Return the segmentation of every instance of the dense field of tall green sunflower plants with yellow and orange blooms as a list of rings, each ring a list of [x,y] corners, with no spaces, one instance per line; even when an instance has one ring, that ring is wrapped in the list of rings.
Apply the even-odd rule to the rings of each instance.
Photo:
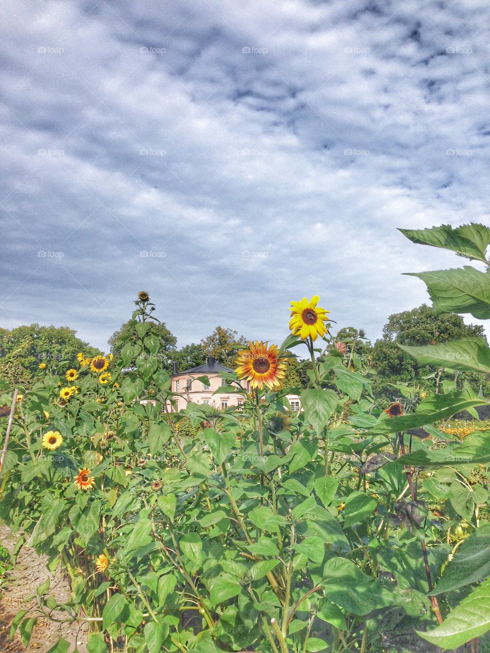
[[[490,229],[403,233],[478,262],[414,275],[436,311],[490,319]],[[380,407],[319,304],[291,302],[281,345],[240,350],[220,390],[239,410],[176,411],[146,292],[120,357],[82,351],[64,375],[42,362],[31,390],[0,390],[0,518],[71,579],[63,605],[42,583],[11,637],[27,646],[42,617],[84,624],[90,653],[490,650],[489,426],[451,421],[490,402],[467,383],[406,385]],[[483,338],[403,349],[490,374]],[[308,389],[282,387],[295,351]]]

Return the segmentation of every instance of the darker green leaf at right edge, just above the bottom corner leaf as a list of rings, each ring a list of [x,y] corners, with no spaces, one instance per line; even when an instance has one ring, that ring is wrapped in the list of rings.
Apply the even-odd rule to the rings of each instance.
[[[454,558],[442,572],[436,588],[429,596],[451,592],[490,576],[490,525],[485,524],[463,542]]]

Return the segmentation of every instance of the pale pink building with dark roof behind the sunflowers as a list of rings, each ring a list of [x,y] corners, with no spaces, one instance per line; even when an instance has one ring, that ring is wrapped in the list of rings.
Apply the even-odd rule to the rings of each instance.
[[[228,408],[230,406],[239,406],[243,402],[243,397],[237,392],[216,392],[221,387],[227,385],[221,374],[234,372],[231,368],[216,362],[214,357],[208,356],[208,360],[203,365],[198,365],[190,370],[178,372],[177,364],[174,363],[172,374],[172,392],[178,394],[178,410],[182,410],[189,402],[195,404],[209,404],[216,408]],[[199,380],[199,377],[207,377],[209,385]],[[250,384],[246,384],[246,389],[250,392]],[[216,392],[216,394],[214,394]],[[287,395],[291,410],[298,411],[300,408],[299,396],[296,394]]]

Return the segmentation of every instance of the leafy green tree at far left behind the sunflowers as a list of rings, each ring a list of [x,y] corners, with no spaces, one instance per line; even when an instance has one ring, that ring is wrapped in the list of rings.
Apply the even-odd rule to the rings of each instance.
[[[0,329],[0,378],[11,387],[30,387],[33,374],[41,362],[46,363],[53,374],[64,374],[76,366],[76,354],[84,353],[93,358],[101,354],[99,349],[76,337],[69,327],[41,327],[38,324],[23,325],[12,330]]]

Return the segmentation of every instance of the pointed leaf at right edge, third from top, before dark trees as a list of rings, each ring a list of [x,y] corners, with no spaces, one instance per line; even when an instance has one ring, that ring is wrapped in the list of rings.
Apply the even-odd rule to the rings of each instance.
[[[483,338],[462,338],[427,347],[398,346],[423,365],[490,374],[490,347]]]

